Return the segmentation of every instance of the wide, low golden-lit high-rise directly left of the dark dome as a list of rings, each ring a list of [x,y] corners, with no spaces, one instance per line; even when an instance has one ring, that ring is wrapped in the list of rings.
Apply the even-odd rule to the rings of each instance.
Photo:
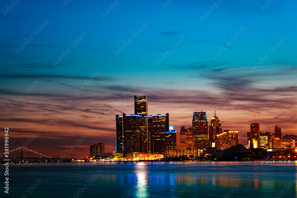
[[[238,131],[224,130],[221,134],[217,134],[217,149],[226,149],[238,145],[238,142]]]

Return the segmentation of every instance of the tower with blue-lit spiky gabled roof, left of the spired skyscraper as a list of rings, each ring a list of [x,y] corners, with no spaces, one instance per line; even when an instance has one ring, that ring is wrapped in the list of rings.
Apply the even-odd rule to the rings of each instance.
[[[193,113],[193,143],[199,140],[208,140],[208,121],[206,112],[195,112]]]

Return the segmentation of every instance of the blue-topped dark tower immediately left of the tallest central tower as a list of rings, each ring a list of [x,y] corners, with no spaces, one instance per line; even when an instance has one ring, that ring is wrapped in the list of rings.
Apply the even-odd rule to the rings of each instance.
[[[123,153],[124,156],[140,152],[140,115],[123,113]]]

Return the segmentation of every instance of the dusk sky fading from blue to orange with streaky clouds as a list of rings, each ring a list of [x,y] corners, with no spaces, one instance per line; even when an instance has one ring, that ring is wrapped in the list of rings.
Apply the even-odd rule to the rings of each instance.
[[[27,148],[60,157],[87,131],[70,157],[97,142],[112,153],[115,115],[134,114],[141,94],[178,132],[206,110],[208,124],[216,111],[244,145],[254,112],[260,131],[297,135],[297,1],[266,2],[1,1],[10,148],[36,134]]]

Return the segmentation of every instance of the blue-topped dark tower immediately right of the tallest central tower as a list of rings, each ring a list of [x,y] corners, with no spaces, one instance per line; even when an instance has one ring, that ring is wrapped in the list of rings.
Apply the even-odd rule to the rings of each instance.
[[[149,116],[150,117],[150,116]],[[169,131],[169,113],[152,115],[151,154],[163,154],[166,149],[165,131]]]

